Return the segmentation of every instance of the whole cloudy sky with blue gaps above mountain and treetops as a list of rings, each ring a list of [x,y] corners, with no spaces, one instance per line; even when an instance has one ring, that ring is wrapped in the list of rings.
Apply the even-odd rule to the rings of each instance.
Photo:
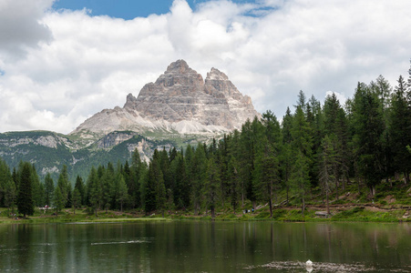
[[[115,3],[115,4],[114,4]],[[0,132],[69,133],[171,62],[227,74],[259,112],[408,77],[409,0],[0,1]]]

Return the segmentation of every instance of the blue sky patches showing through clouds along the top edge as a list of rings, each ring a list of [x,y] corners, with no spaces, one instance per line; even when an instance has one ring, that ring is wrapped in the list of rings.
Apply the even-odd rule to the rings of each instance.
[[[188,4],[192,9],[200,3],[210,2],[208,0],[189,0]],[[252,0],[232,0],[233,3],[245,4],[255,3]],[[148,15],[166,14],[170,11],[173,0],[58,0],[53,8],[81,10],[87,8],[91,10],[91,15],[108,15],[125,20],[135,17],[147,17]]]

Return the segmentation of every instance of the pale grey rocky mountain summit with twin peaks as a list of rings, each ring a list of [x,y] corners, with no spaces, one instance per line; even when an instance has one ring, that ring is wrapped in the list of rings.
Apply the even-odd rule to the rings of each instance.
[[[228,76],[211,68],[205,80],[184,60],[178,60],[126,104],[88,118],[70,135],[94,140],[113,131],[207,135],[241,128],[260,116],[249,96],[242,96]]]

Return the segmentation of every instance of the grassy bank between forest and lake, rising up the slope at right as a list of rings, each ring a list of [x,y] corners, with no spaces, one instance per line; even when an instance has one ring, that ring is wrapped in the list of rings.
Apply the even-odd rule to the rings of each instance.
[[[368,189],[358,187],[352,183],[346,185],[344,190],[333,193],[330,197],[330,215],[325,216],[326,206],[323,195],[319,188],[307,195],[307,204],[302,214],[301,202],[296,197],[290,197],[288,204],[285,192],[280,192],[274,200],[277,204],[270,217],[267,204],[257,204],[254,212],[244,213],[245,210],[252,211],[251,202],[237,209],[234,214],[230,202],[225,202],[225,207],[218,207],[215,220],[217,221],[290,221],[290,222],[411,222],[411,187],[403,182],[382,183],[377,188],[377,194],[370,196]],[[65,208],[54,215],[55,211],[48,210],[46,213],[35,210],[35,215],[23,219],[21,216],[10,216],[7,208],[0,207],[1,223],[71,223],[71,222],[135,222],[135,221],[166,221],[180,219],[211,220],[210,211],[202,210],[198,216],[193,211],[182,211],[170,209],[165,212],[152,214],[147,217],[141,210],[128,210],[118,212],[113,210],[98,211],[98,216],[88,208],[73,209]]]

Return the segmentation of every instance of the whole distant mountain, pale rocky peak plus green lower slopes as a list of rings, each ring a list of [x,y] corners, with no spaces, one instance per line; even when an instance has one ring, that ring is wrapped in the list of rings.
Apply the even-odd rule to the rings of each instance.
[[[178,60],[149,83],[139,96],[129,94],[121,108],[105,109],[67,136],[48,131],[0,134],[0,157],[10,167],[20,160],[35,164],[40,176],[67,165],[72,180],[87,176],[91,166],[124,163],[135,148],[149,160],[155,148],[185,147],[207,142],[248,119],[261,115],[249,96],[242,96],[229,78],[211,68],[205,80]]]

